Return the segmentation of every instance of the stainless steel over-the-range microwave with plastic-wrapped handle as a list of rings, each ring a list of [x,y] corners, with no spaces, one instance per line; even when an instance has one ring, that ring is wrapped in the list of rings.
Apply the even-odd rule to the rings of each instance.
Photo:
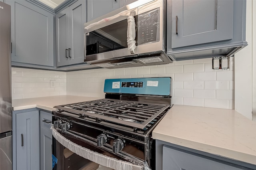
[[[171,63],[166,0],[138,0],[84,24],[84,62],[105,68]]]

